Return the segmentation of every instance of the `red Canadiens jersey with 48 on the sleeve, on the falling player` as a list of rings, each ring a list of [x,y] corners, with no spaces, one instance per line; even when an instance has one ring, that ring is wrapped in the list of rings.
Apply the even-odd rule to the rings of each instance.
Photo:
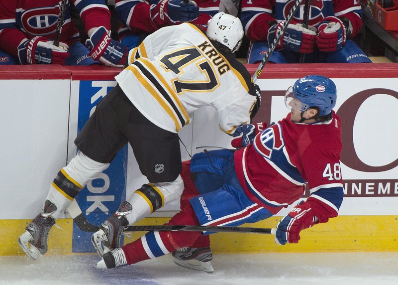
[[[340,118],[300,124],[290,114],[235,151],[235,167],[247,196],[278,213],[298,200],[308,183],[311,199],[337,216],[342,201]]]

